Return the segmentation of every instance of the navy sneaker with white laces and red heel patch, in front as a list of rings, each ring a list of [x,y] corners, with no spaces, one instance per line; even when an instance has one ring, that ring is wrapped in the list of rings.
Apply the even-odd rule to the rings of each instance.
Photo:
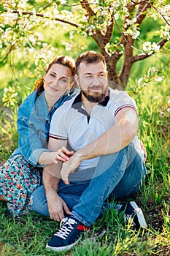
[[[81,235],[85,230],[89,230],[89,227],[85,227],[73,217],[67,217],[58,232],[54,234],[46,245],[46,249],[51,249],[55,252],[69,250],[80,241]]]

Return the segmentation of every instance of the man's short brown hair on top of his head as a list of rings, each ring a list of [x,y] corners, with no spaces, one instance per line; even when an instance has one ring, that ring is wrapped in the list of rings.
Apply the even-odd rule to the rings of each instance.
[[[85,62],[86,64],[90,64],[99,61],[102,61],[104,65],[107,65],[104,56],[102,56],[100,53],[96,53],[96,51],[91,50],[80,54],[75,61],[77,75],[80,63]]]

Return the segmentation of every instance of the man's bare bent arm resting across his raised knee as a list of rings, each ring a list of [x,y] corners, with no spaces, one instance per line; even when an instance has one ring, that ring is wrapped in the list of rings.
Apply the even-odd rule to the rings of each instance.
[[[115,117],[115,124],[107,132],[75,152],[69,161],[63,163],[61,170],[63,181],[69,184],[69,174],[74,173],[82,160],[113,154],[128,146],[136,135],[138,124],[138,116],[134,109],[123,108],[120,110]]]

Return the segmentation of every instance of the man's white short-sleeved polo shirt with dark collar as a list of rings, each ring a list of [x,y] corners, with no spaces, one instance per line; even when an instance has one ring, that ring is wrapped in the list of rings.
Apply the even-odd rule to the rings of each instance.
[[[136,110],[134,99],[125,91],[109,89],[108,96],[102,102],[93,106],[89,116],[82,105],[80,93],[69,101],[64,102],[55,111],[50,124],[49,137],[56,140],[68,140],[72,149],[77,151],[92,143],[93,140],[96,140],[112,127],[115,124],[115,116],[123,108],[133,108]],[[91,151],[93,151],[93,148],[91,148]],[[70,176],[75,178],[82,170],[91,167],[94,169],[98,159],[99,157],[95,157],[82,161],[78,168],[78,173],[73,173]]]

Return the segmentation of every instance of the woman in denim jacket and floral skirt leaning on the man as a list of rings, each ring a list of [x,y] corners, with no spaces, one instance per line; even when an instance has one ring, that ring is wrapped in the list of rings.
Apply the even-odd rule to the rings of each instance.
[[[18,109],[19,145],[0,167],[0,200],[14,216],[31,211],[30,197],[42,184],[42,167],[58,157],[47,149],[50,121],[55,110],[76,94],[70,91],[74,74],[70,57],[54,59]]]

